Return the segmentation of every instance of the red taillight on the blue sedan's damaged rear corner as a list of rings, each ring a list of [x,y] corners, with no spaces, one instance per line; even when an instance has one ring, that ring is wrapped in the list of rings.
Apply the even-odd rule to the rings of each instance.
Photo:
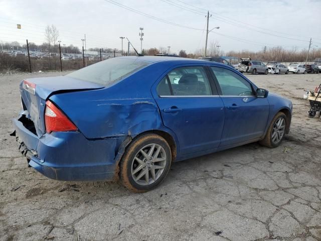
[[[50,100],[47,100],[46,102],[45,125],[47,133],[77,130],[77,127],[70,121],[70,119],[68,119],[68,117]]]

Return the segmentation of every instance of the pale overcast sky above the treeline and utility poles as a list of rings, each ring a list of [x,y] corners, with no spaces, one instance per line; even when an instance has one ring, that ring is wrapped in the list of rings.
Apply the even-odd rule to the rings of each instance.
[[[136,11],[178,27],[128,11],[110,0],[0,0],[0,41],[42,43],[44,29],[54,24],[62,44],[81,47],[86,34],[87,49],[121,49],[120,36],[128,37],[140,50],[139,27],[143,27],[143,48],[171,46],[194,52],[205,46],[206,10],[212,18],[208,42],[217,41],[224,51],[260,50],[277,45],[321,47],[321,0],[114,0]],[[178,6],[174,6],[178,5]],[[245,24],[247,23],[247,24]],[[17,29],[21,24],[22,29]],[[192,29],[191,29],[192,28]],[[124,48],[127,42],[124,41]]]

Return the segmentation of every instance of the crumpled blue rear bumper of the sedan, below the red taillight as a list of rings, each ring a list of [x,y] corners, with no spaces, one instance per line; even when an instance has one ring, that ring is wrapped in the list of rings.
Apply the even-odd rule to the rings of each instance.
[[[88,140],[79,132],[56,132],[41,137],[13,119],[19,150],[29,165],[48,178],[62,181],[112,180],[121,138]]]

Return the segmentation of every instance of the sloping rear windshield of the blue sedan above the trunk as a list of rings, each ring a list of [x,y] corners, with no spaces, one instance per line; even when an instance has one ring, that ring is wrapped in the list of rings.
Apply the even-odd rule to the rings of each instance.
[[[79,69],[67,74],[67,76],[108,86],[146,67],[148,64],[137,59],[111,58]]]

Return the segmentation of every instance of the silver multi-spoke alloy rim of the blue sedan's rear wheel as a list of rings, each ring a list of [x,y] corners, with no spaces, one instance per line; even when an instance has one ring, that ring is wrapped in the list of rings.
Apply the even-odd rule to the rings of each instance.
[[[165,149],[152,143],[141,148],[131,164],[131,177],[141,186],[147,186],[162,176],[167,163]]]

